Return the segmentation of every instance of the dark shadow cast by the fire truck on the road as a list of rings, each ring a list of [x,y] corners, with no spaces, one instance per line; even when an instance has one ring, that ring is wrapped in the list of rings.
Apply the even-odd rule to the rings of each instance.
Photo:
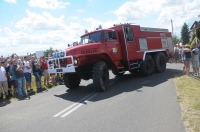
[[[123,76],[111,79],[110,83],[112,85],[110,85],[108,90],[104,93],[100,93],[98,97],[92,99],[91,101],[95,102],[98,100],[112,98],[113,96],[117,96],[123,92],[143,92],[141,88],[143,88],[144,86],[153,88],[154,86],[166,82],[174,75],[182,76],[182,70],[166,69],[164,73],[154,73],[153,75],[148,77],[137,77],[133,76],[132,74],[125,74]],[[65,100],[77,102],[81,97],[80,96],[79,98],[77,98],[79,95],[82,95],[82,97],[84,97],[93,91],[95,91],[95,89],[93,88],[92,83],[90,83],[87,86],[80,86],[77,89],[68,89],[66,93],[54,96]]]

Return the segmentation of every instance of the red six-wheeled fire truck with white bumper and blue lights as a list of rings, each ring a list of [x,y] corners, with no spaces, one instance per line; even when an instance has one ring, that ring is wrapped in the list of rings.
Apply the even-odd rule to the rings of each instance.
[[[79,87],[81,79],[93,79],[95,88],[106,91],[109,70],[115,75],[163,72],[171,52],[172,36],[167,29],[119,24],[86,33],[78,45],[53,53],[48,72],[63,73],[70,89]]]

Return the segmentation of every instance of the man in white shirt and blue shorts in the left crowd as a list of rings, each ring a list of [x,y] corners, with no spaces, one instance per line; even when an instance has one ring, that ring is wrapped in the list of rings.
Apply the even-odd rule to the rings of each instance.
[[[26,89],[27,92],[32,92],[33,89],[31,88],[31,72],[32,72],[32,67],[31,63],[29,62],[28,56],[24,56],[24,76],[26,79]]]

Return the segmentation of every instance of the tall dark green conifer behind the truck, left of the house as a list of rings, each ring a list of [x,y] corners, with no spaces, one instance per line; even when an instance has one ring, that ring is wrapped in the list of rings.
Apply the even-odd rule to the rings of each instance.
[[[183,24],[183,27],[181,29],[181,40],[182,40],[183,45],[189,43],[190,41],[189,28],[186,23]]]

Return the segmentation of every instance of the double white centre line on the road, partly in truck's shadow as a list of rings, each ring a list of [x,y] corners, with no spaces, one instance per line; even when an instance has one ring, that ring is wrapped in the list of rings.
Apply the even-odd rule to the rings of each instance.
[[[112,82],[110,82],[109,86],[113,85],[115,82],[117,82],[120,78],[116,78],[115,80],[113,80]],[[93,91],[91,93],[89,93],[87,96],[83,97],[82,99],[80,99],[79,101],[77,101],[76,103],[70,105],[69,107],[65,108],[64,110],[60,111],[59,113],[55,114],[53,117],[66,117],[69,114],[71,114],[72,112],[74,112],[75,110],[77,110],[79,107],[87,104],[91,99],[93,99],[94,97],[96,97],[98,94],[100,94],[97,91]]]

